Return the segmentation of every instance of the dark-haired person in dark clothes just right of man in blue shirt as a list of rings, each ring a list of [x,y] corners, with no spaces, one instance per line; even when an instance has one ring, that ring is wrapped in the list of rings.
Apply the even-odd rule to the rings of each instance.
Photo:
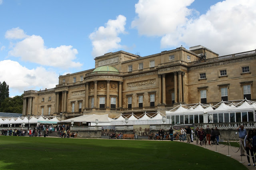
[[[244,138],[244,147],[246,149],[246,154],[247,154],[247,160],[248,160],[248,166],[250,166],[250,153],[249,150],[251,152],[251,156],[252,156],[252,162],[253,162],[253,166],[255,166],[255,161],[254,161],[254,154],[253,154],[253,148],[252,148],[252,137],[253,137],[253,132],[252,129],[250,129],[248,131],[248,134],[246,134],[245,138]]]

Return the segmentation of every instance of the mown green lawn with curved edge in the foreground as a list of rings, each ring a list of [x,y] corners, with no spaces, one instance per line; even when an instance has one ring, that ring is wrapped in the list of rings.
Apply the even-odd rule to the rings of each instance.
[[[205,148],[174,141],[0,136],[0,169],[246,169]]]

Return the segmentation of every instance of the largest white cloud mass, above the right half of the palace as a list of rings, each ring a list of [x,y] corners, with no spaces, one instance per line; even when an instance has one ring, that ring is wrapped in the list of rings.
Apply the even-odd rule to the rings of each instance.
[[[149,2],[154,7],[155,5],[165,6],[169,1],[139,1],[138,4],[145,6]],[[180,1],[177,2],[180,3]],[[174,2],[172,1],[172,3]],[[255,0],[218,2],[211,6],[206,14],[197,17],[189,13],[190,10],[187,6],[191,3],[192,1],[180,3],[177,9],[184,9],[184,12],[179,15],[168,14],[168,17],[172,19],[164,17],[165,10],[159,10],[158,13],[160,14],[158,14],[149,8],[148,10],[154,14],[151,16],[148,10],[137,12],[139,10],[137,10],[138,4],[136,4],[138,18],[132,22],[132,26],[136,26],[140,34],[162,36],[161,47],[203,45],[220,55],[255,49]],[[143,20],[146,20],[146,22],[143,22]],[[165,20],[168,24],[165,24]],[[174,20],[174,22],[170,22],[170,20]],[[137,21],[140,21],[141,24]],[[161,28],[155,28],[152,23],[155,23],[155,27],[159,26]],[[150,27],[153,27],[154,31],[150,32]]]

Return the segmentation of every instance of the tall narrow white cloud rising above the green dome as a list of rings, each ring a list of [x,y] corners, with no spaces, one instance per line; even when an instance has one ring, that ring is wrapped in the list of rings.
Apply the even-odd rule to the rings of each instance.
[[[125,34],[126,17],[119,15],[116,20],[108,20],[89,36],[92,41],[92,55],[94,57],[108,53],[110,50],[121,48],[119,34]]]

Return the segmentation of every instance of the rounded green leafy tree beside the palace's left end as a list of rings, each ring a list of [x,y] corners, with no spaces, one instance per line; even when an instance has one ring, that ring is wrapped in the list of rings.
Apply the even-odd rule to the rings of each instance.
[[[21,96],[15,96],[13,98],[8,97],[2,101],[0,107],[1,112],[6,113],[22,113],[23,109],[23,94]]]

